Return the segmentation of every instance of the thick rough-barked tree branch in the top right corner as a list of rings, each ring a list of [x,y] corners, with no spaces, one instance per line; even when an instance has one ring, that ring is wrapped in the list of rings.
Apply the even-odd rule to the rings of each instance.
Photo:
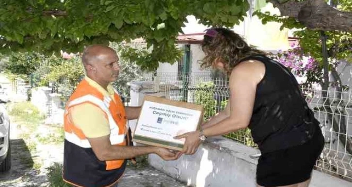
[[[295,18],[308,29],[352,31],[352,13],[339,11],[324,0],[290,0],[282,4],[277,0],[268,1],[281,15]]]

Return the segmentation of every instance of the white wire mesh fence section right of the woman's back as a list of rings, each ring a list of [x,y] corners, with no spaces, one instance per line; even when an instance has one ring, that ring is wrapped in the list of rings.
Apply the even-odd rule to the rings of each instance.
[[[352,92],[304,89],[306,101],[320,121],[325,147],[318,170],[352,180]]]

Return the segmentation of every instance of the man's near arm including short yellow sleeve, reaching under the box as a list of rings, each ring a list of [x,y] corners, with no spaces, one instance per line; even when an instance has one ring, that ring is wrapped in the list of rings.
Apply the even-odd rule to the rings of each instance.
[[[149,153],[156,153],[165,160],[179,157],[179,155],[160,147],[112,145],[109,139],[110,127],[108,119],[106,119],[102,110],[93,104],[83,103],[72,107],[70,109],[70,117],[72,122],[83,131],[99,160],[133,158]]]

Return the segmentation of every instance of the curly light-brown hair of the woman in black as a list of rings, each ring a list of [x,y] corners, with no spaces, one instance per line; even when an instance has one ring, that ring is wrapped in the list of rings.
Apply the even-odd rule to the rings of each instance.
[[[205,53],[201,62],[202,68],[212,67],[215,60],[220,59],[228,75],[241,59],[266,55],[264,51],[249,46],[239,34],[224,28],[208,29],[204,35],[202,50]]]

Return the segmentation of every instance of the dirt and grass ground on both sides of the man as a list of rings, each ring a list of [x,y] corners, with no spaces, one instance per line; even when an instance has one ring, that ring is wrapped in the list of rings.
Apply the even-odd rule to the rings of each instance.
[[[62,186],[61,165],[64,155],[64,133],[61,125],[45,125],[37,119],[19,114],[10,116],[12,168],[0,173],[0,187],[50,187],[48,168],[55,164],[55,179]],[[18,117],[18,115],[23,115]],[[31,120],[24,120],[31,118]],[[15,123],[16,122],[16,123]],[[126,169],[119,187],[186,187],[165,173],[148,166],[147,157],[138,157],[137,165]],[[57,174],[60,173],[60,174]],[[53,173],[51,173],[53,174]],[[58,187],[58,186],[56,186]]]

